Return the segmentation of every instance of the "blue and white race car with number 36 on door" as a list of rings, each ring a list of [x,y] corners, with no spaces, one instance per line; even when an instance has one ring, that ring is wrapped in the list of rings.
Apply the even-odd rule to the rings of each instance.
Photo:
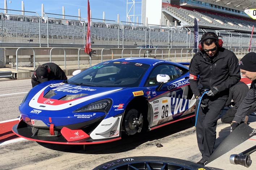
[[[195,116],[188,67],[154,58],[99,63],[68,80],[38,84],[13,132],[56,144],[98,144]]]

